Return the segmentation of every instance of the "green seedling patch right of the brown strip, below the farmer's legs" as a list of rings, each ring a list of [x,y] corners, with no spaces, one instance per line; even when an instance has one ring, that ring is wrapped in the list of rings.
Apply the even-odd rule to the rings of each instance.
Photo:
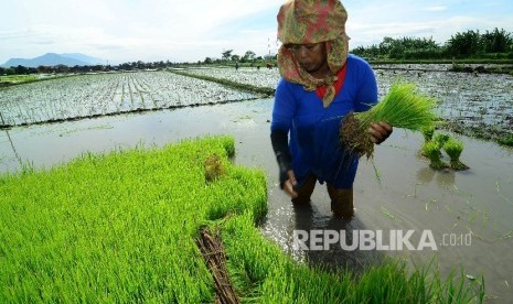
[[[222,230],[232,282],[242,302],[252,303],[482,303],[480,280],[440,278],[428,264],[408,269],[393,258],[366,267],[325,270],[298,263],[255,227],[250,214],[232,218]],[[243,245],[243,246],[242,246]]]

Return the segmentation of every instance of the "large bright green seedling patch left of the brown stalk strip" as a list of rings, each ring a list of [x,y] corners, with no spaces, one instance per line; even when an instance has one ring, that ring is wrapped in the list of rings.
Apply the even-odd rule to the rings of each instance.
[[[0,175],[0,303],[213,303],[199,228],[267,210],[265,175],[227,160],[233,142],[88,153]],[[225,175],[205,185],[210,155]]]

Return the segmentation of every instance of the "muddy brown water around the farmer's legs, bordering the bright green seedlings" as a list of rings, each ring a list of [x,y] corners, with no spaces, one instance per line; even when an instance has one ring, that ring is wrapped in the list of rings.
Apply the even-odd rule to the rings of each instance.
[[[86,151],[104,152],[136,145],[164,145],[180,139],[232,133],[236,163],[264,170],[268,176],[269,211],[264,235],[298,260],[328,267],[363,265],[386,256],[412,264],[434,259],[442,276],[464,268],[469,278],[485,278],[498,303],[513,301],[513,158],[512,151],[466,137],[461,160],[466,172],[435,172],[419,156],[419,134],[395,130],[375,152],[374,163],[362,161],[354,185],[355,217],[334,219],[324,185],[317,185],[311,206],[293,208],[277,186],[277,165],[269,142],[271,99],[184,108],[126,117],[12,129],[0,133],[0,171],[15,171],[20,162],[50,167]],[[9,137],[8,137],[9,135]],[[396,231],[413,230],[417,248],[424,231],[435,247],[424,250],[330,250],[292,248],[295,230],[383,230],[385,245]]]

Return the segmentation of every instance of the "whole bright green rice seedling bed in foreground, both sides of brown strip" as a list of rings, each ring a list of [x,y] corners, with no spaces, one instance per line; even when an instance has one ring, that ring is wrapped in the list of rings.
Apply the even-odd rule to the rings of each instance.
[[[85,154],[50,170],[0,176],[0,302],[213,303],[196,247],[221,231],[242,301],[426,303],[483,300],[483,285],[386,261],[359,278],[284,256],[255,227],[265,174],[234,165],[231,135]],[[222,167],[205,180],[206,159]]]

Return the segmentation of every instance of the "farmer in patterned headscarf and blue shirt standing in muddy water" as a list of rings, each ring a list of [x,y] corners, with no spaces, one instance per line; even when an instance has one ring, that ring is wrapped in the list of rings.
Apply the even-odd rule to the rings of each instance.
[[[310,203],[317,181],[327,183],[335,217],[351,218],[354,156],[339,143],[342,118],[377,102],[371,66],[348,53],[348,14],[339,0],[289,0],[278,13],[278,69],[270,138],[280,187],[295,205]],[[371,141],[392,133],[372,123]],[[290,138],[290,141],[289,141]]]

